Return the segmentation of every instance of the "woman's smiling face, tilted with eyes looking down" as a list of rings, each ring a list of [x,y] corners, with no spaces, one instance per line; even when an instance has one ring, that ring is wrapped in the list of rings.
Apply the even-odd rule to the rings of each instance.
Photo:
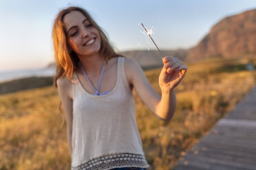
[[[81,12],[72,11],[63,18],[67,44],[78,56],[89,56],[100,50],[100,34]]]

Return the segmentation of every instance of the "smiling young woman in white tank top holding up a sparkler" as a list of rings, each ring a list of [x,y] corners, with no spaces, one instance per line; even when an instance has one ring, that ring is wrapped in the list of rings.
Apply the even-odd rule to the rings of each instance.
[[[136,124],[132,90],[159,119],[170,121],[176,107],[174,88],[187,66],[178,58],[163,58],[160,97],[140,66],[115,53],[102,29],[82,8],[61,10],[52,36],[55,84],[67,123],[71,169],[149,167]]]

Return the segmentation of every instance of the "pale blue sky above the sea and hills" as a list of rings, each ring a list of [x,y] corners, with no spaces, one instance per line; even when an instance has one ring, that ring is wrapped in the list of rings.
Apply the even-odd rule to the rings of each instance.
[[[187,49],[225,16],[256,8],[255,0],[0,0],[0,71],[35,69],[54,61],[52,23],[59,10],[85,8],[118,51]]]

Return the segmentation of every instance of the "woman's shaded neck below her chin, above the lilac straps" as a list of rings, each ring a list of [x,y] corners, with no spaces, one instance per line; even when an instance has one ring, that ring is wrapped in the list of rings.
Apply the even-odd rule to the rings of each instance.
[[[78,58],[83,66],[83,69],[85,69],[87,73],[98,73],[101,70],[104,62],[103,56],[100,56],[99,53],[95,53],[91,56],[78,56]]]

